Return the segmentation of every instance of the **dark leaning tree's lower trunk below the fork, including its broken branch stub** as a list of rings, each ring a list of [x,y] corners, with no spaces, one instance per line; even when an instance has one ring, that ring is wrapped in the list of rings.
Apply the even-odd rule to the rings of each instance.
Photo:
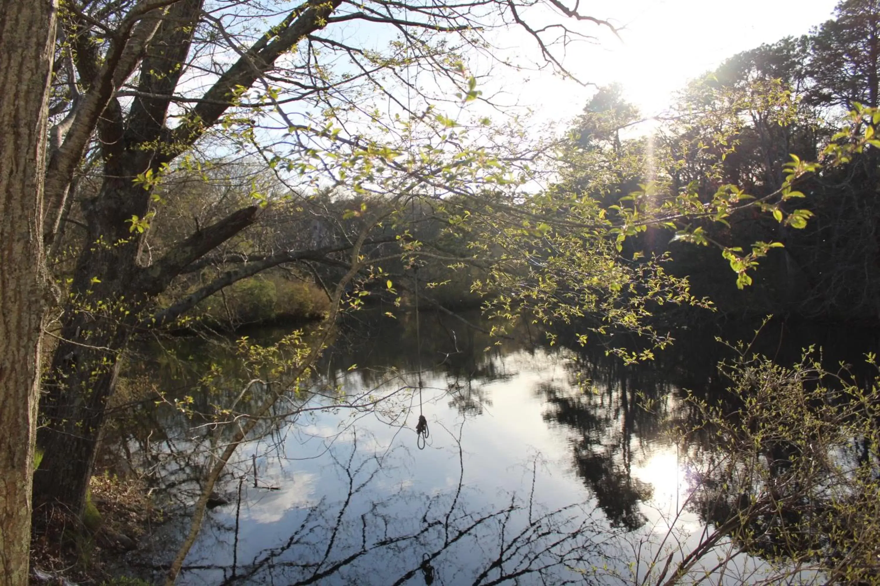
[[[121,156],[99,194],[84,203],[86,242],[91,244],[77,259],[61,339],[43,385],[40,416],[45,423],[37,445],[44,455],[33,477],[34,501],[60,505],[77,517],[83,512],[106,402],[143,310],[188,264],[253,223],[259,209],[231,213],[143,266],[138,262],[143,235],[131,230],[127,220],[147,213],[150,193],[133,179],[151,164],[140,151]]]

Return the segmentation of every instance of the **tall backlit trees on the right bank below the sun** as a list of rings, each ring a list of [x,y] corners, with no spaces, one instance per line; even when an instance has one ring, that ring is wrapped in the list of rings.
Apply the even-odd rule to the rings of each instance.
[[[563,188],[586,190],[606,206],[643,184],[656,193],[693,185],[702,201],[724,184],[758,198],[776,192],[791,155],[816,160],[848,112],[876,107],[878,19],[874,2],[843,2],[835,18],[808,35],[731,57],[679,92],[650,139],[621,139],[642,121],[640,114],[620,88],[600,90],[573,129],[578,138]],[[873,121],[866,124],[873,134]],[[677,274],[690,275],[695,290],[722,311],[876,321],[876,157],[867,149],[801,184],[806,198],[782,210],[796,205],[809,211],[796,225],[803,229],[757,213],[731,218],[727,227],[703,224],[722,248],[784,244],[745,293],[732,286],[714,252],[671,245],[673,233],[652,230],[640,245],[671,250]]]

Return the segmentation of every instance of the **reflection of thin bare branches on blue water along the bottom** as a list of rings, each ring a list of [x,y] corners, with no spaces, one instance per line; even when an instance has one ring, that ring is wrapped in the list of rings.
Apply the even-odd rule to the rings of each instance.
[[[589,584],[594,582],[583,572],[597,563],[626,566],[617,546],[610,545],[613,532],[582,505],[543,510],[532,494],[511,496],[500,507],[474,508],[463,485],[460,450],[458,486],[434,495],[376,486],[385,458],[364,457],[356,435],[349,448],[337,446],[331,453],[343,480],[340,499],[322,498],[289,511],[290,521],[275,525],[290,527],[289,533],[275,529],[278,544],[247,560],[238,553],[237,519],[216,523],[213,542],[203,542],[202,550],[211,561],[228,561],[196,562],[185,566],[181,577],[224,585]]]

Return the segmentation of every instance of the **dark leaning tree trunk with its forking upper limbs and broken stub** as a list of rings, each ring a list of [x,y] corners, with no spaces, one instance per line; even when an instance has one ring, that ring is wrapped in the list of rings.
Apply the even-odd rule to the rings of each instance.
[[[157,18],[161,22],[150,20],[156,14],[150,12],[151,7],[158,4],[168,6],[167,15]],[[339,4],[341,0],[313,0],[297,7],[242,54],[205,93],[205,101],[194,108],[192,118],[173,130],[165,126],[165,118],[196,28],[182,24],[199,18],[202,0],[141,0],[136,5],[149,18],[137,23],[136,18],[124,19],[128,28],[115,35],[88,93],[77,105],[76,119],[48,165],[47,199],[56,209],[63,204],[86,139],[99,133],[105,179],[98,194],[82,204],[84,242],[90,245],[77,258],[70,299],[62,315],[62,340],[55,347],[40,404],[46,424],[37,434],[37,445],[45,454],[33,478],[36,502],[82,512],[106,402],[114,392],[121,355],[143,318],[143,309],[187,264],[255,220],[257,208],[239,210],[181,242],[157,264],[144,267],[139,262],[144,235],[129,228],[133,216],[144,218],[149,212],[150,191],[135,184],[135,178],[148,170],[157,172],[163,163],[190,148],[223,116],[238,85],[249,87],[272,69],[290,47],[323,28],[326,16]],[[128,33],[134,40],[131,44],[124,40]],[[114,91],[142,58],[138,90],[150,97],[138,98],[125,114]],[[49,226],[48,232],[52,231]]]

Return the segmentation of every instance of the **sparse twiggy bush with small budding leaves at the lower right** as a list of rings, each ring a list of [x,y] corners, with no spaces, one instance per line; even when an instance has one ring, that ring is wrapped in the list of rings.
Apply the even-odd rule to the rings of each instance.
[[[880,378],[865,390],[811,349],[791,366],[740,351],[722,364],[724,402],[689,397],[701,423],[682,437],[696,481],[688,500],[715,527],[707,539],[759,555],[774,579],[876,583]]]

